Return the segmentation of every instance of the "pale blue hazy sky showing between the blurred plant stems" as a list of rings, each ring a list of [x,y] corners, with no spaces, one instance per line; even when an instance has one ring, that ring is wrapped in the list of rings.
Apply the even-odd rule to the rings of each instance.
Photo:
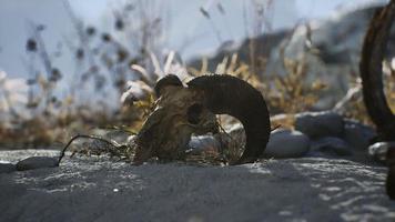
[[[274,0],[280,6],[274,7],[272,22],[274,29],[292,27],[300,20],[322,19],[338,11],[342,7],[362,6],[372,0]],[[381,1],[381,0],[375,0]],[[383,0],[385,2],[385,0]],[[111,9],[125,0],[69,0],[78,17],[85,23],[109,27],[108,17]],[[161,1],[164,2],[164,1]],[[188,2],[188,3],[186,3]],[[205,7],[212,12],[214,26],[220,30],[222,41],[240,40],[245,36],[243,27],[242,6],[250,0],[221,1],[226,16],[216,10],[219,0],[166,0],[171,28],[168,33],[168,47],[179,50],[186,38],[195,38],[182,51],[184,58],[213,51],[220,46],[211,24],[200,12]],[[281,3],[282,2],[282,3]],[[27,72],[22,60],[26,40],[31,34],[29,21],[47,26],[44,40],[49,51],[64,38],[72,37],[70,19],[60,0],[0,0],[0,70],[10,75],[23,77]],[[69,58],[60,59],[60,65],[72,64]]]

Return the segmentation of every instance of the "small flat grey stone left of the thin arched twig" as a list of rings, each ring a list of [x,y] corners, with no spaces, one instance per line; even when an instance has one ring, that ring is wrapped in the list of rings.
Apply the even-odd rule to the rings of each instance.
[[[55,168],[58,167],[57,158],[49,157],[31,157],[24,160],[21,160],[17,163],[17,170],[36,170],[40,168]]]

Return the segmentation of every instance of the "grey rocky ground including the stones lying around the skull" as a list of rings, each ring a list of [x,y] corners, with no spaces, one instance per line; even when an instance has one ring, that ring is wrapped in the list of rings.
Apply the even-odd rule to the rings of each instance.
[[[372,144],[374,129],[334,112],[294,119],[272,132],[265,159],[236,167],[70,153],[57,167],[58,150],[0,151],[0,221],[395,221],[383,164],[393,144]],[[229,134],[245,141],[241,125]]]

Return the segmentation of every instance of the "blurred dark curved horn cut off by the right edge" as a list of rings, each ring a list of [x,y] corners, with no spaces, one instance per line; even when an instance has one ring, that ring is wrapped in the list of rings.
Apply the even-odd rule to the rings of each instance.
[[[364,40],[359,62],[364,102],[382,140],[395,140],[395,115],[388,107],[383,90],[382,67],[394,20],[395,0],[392,0],[373,17]]]

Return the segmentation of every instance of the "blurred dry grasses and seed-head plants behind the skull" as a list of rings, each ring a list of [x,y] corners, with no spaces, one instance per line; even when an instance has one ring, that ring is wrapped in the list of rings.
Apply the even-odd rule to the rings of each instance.
[[[263,12],[259,10],[262,7],[264,6],[255,8],[257,11],[253,13],[255,14],[254,22],[252,22],[253,29],[246,31],[251,32],[249,36],[257,36],[259,30],[267,26],[262,20]],[[221,4],[217,8],[221,13],[226,14]],[[320,99],[318,94],[326,90],[325,82],[307,81],[308,63],[305,58],[291,60],[284,56],[286,43],[281,49],[281,60],[285,70],[283,74],[257,74],[265,72],[267,58],[254,51],[257,48],[254,46],[257,42],[254,41],[251,41],[247,62],[240,61],[239,56],[234,53],[225,56],[213,70],[209,70],[209,61],[205,58],[202,59],[200,69],[185,67],[176,59],[174,51],[168,54],[158,53],[161,51],[160,39],[164,32],[163,21],[160,16],[149,17],[148,10],[158,9],[152,9],[150,3],[140,1],[136,6],[126,4],[115,10],[115,30],[111,34],[85,26],[71,10],[69,11],[78,38],[75,38],[77,42],[71,41],[67,44],[75,56],[77,71],[72,78],[73,82],[67,84],[69,93],[62,97],[59,97],[59,91],[64,90],[60,88],[60,81],[67,73],[57,69],[52,58],[49,57],[51,53],[45,50],[45,42],[41,38],[43,28],[31,23],[32,33],[27,41],[27,51],[29,58],[40,61],[43,65],[40,65],[41,69],[31,69],[31,77],[27,80],[29,91],[22,95],[27,99],[22,105],[12,103],[12,91],[0,88],[2,92],[0,97],[2,95],[6,101],[6,103],[0,103],[0,108],[1,105],[8,108],[8,118],[0,123],[0,143],[11,145],[64,143],[73,134],[113,125],[138,132],[146,115],[152,111],[155,100],[153,95],[155,81],[168,73],[178,74],[184,82],[206,73],[231,74],[243,79],[262,92],[271,114],[275,115],[272,118],[272,125],[281,124],[284,128],[292,128],[294,114],[310,110]],[[201,11],[211,20],[207,11],[204,9]],[[128,26],[130,23],[128,21],[135,19],[139,14],[144,16],[141,24],[145,26]],[[211,22],[213,29],[216,29],[215,22]],[[133,46],[122,44],[122,38],[133,42]],[[217,38],[221,37],[217,36]],[[27,63],[27,67],[33,67],[29,60]],[[395,71],[388,62],[386,62],[386,68],[385,91],[388,95],[388,103],[395,111]],[[39,74],[36,74],[37,70],[40,70]],[[4,81],[0,78],[0,83]],[[338,111],[346,117],[369,123],[362,95],[358,94],[361,83],[355,79],[350,84],[356,91],[350,93],[350,98],[345,98]],[[91,103],[87,102],[87,99],[83,100],[83,93],[79,91],[80,88],[90,90],[98,98]],[[113,92],[113,98],[121,99],[123,102],[119,107],[115,105],[115,110],[110,108],[105,101],[108,99],[101,95],[109,91]],[[23,112],[29,113],[29,117]],[[234,122],[233,119],[221,117],[224,128]],[[222,152],[210,150],[200,157],[190,159],[215,163],[235,160],[240,157],[244,142],[233,135],[224,138],[227,140],[222,141],[222,145],[226,148],[222,148]],[[105,153],[107,150],[93,149],[98,152],[92,152],[88,145],[87,148],[80,152],[100,154]],[[133,151],[122,150],[119,151],[119,155],[131,160]]]

